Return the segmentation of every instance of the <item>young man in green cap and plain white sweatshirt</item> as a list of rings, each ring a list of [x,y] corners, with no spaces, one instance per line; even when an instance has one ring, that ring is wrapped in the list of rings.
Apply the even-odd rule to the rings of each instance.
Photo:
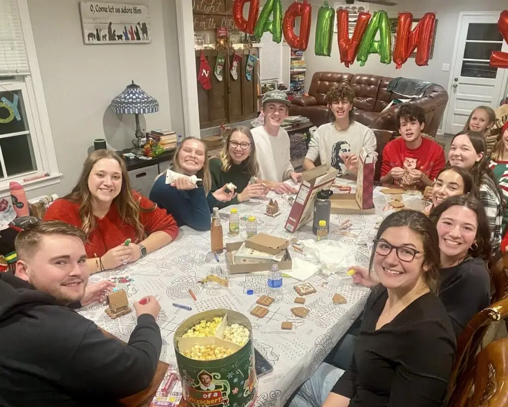
[[[266,92],[263,97],[265,124],[251,130],[256,144],[260,178],[271,181],[271,188],[277,193],[295,191],[283,181],[302,180],[302,174],[295,172],[291,164],[289,134],[280,125],[288,116],[288,94],[280,90]]]

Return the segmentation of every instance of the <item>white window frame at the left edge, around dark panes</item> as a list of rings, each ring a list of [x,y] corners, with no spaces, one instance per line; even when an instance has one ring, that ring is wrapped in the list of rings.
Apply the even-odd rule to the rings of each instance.
[[[23,94],[26,121],[31,137],[31,144],[34,149],[37,170],[0,180],[0,197],[9,195],[9,183],[12,181],[21,184],[25,191],[31,191],[58,184],[62,177],[62,174],[58,171],[58,164],[56,161],[56,153],[27,0],[17,0],[17,5],[30,73],[28,75],[17,75],[14,79],[12,79],[12,77],[0,77],[0,84],[6,89],[12,88],[13,86],[20,86],[22,88],[21,93]],[[27,98],[25,98],[25,95]],[[27,178],[44,176],[45,174],[49,174],[49,176],[33,181],[23,181]]]

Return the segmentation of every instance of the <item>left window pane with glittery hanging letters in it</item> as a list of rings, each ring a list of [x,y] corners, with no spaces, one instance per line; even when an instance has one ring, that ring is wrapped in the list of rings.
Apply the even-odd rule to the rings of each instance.
[[[28,125],[21,90],[0,92],[0,134],[26,130]]]

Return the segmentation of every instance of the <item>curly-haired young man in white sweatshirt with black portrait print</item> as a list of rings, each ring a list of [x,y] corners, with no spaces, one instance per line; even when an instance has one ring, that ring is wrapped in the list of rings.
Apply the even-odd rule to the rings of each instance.
[[[335,120],[323,124],[314,132],[303,160],[303,169],[314,168],[315,160],[320,157],[321,164],[338,170],[338,176],[356,176],[362,148],[374,160],[377,157],[376,137],[370,128],[353,119],[355,91],[351,86],[335,84],[328,91],[326,99]]]

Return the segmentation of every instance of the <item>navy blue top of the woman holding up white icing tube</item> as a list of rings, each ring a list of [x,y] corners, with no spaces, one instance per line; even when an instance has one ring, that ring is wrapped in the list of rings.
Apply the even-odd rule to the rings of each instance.
[[[149,197],[171,214],[178,226],[210,230],[210,209],[203,187],[180,191],[166,184],[166,177],[162,176],[155,180]]]

